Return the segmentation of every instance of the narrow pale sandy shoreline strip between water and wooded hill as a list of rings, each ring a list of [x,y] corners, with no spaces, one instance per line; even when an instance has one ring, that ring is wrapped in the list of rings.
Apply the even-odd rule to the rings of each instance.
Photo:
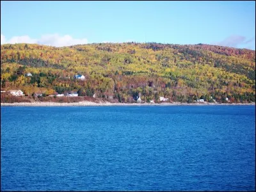
[[[201,103],[181,103],[181,102],[163,102],[163,103],[111,103],[111,102],[14,102],[1,103],[1,106],[255,106],[252,103],[219,103],[219,102],[201,102]]]

